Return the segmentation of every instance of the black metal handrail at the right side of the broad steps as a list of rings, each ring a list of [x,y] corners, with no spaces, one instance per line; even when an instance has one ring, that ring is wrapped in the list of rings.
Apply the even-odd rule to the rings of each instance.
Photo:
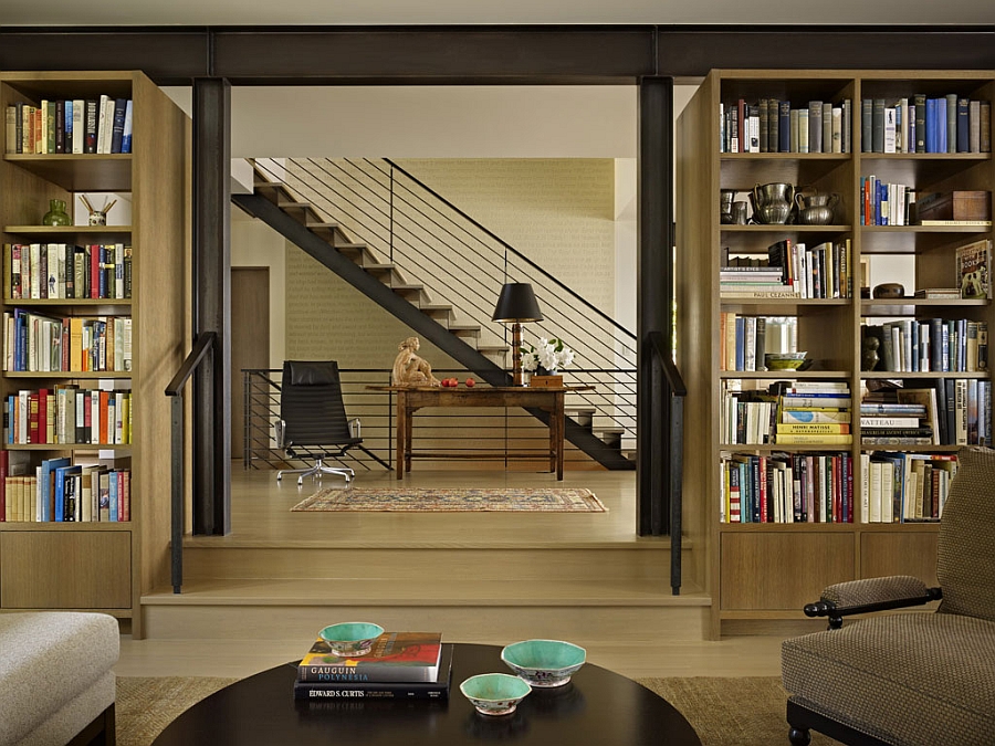
[[[667,483],[668,494],[664,497],[670,508],[670,587],[673,595],[679,596],[681,592],[684,397],[688,396],[688,388],[684,386],[681,371],[673,364],[663,334],[661,332],[650,332],[647,335],[647,342],[652,353],[653,361],[663,370],[663,379],[666,381],[666,387],[663,387],[664,396],[653,399],[661,402],[661,409],[664,411],[654,412],[653,419],[660,422],[670,422],[670,433],[666,442],[666,448],[670,454],[667,461],[670,480]],[[652,385],[656,388],[658,382],[653,381]],[[667,389],[669,389],[669,396],[666,396]],[[670,410],[669,417],[667,409]]]

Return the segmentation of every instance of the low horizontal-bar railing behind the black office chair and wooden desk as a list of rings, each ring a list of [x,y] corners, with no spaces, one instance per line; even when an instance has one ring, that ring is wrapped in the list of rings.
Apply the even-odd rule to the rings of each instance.
[[[434,370],[440,377],[457,377],[464,386],[472,374],[465,370]],[[599,371],[591,371],[596,377]],[[363,445],[368,453],[352,449],[341,461],[347,465],[359,465],[367,470],[381,470],[384,463],[392,465],[395,459],[395,437],[397,420],[395,416],[396,399],[388,391],[370,390],[369,386],[384,386],[389,382],[390,371],[387,369],[339,369],[342,377],[343,401],[346,413],[359,418],[362,423]],[[603,376],[617,375],[617,371],[604,371]],[[280,389],[282,370],[279,369],[243,369],[242,396],[245,406],[244,420],[244,469],[286,469],[304,465],[305,461],[318,453],[295,446],[296,456],[289,459],[286,453],[276,448],[274,423],[280,419]],[[485,383],[476,382],[479,387]],[[566,413],[575,421],[587,427],[589,422],[597,433],[590,407],[580,398],[580,392],[568,393]],[[635,411],[628,413],[635,418]],[[606,449],[618,450],[620,433],[608,432]],[[546,469],[549,458],[549,435],[545,425],[540,423],[524,409],[510,408],[464,408],[464,409],[423,409],[413,419],[412,445],[415,452],[444,452],[462,454],[464,461],[472,461],[476,455],[481,461],[493,462],[495,458],[510,451],[515,453],[507,463],[530,464],[536,471]],[[523,452],[535,452],[535,456],[522,456]],[[380,460],[378,463],[377,460]],[[533,459],[537,460],[533,461]],[[589,463],[589,456],[567,446],[565,461]],[[425,462],[432,462],[426,456]],[[440,460],[439,460],[440,461]]]

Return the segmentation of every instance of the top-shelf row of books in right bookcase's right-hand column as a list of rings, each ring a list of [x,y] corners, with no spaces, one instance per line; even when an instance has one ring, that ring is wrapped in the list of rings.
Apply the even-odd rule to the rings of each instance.
[[[863,98],[863,153],[989,153],[992,105],[950,93]]]

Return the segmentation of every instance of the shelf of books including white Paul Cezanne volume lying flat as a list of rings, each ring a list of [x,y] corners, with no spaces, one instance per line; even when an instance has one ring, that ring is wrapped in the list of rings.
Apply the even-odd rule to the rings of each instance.
[[[852,284],[849,239],[811,248],[784,239],[768,246],[765,264],[719,271],[723,298],[847,298]]]

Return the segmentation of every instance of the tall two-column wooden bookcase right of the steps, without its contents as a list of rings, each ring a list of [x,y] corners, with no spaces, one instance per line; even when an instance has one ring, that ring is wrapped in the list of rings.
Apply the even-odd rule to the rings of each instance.
[[[982,372],[881,372],[861,370],[861,325],[882,317],[944,318],[986,322],[995,328],[989,300],[876,301],[860,297],[863,260],[904,258],[914,290],[954,283],[954,253],[965,243],[992,239],[991,225],[865,225],[860,217],[861,177],[873,175],[901,182],[919,193],[952,190],[987,192],[995,183],[991,153],[865,153],[861,146],[863,99],[889,102],[915,94],[955,93],[995,102],[995,74],[976,71],[712,71],[681,114],[677,130],[678,164],[678,363],[688,381],[684,433],[685,527],[704,551],[690,571],[712,595],[711,633],[723,629],[765,628],[804,620],[802,607],[832,582],[890,574],[909,574],[935,582],[936,523],[861,523],[861,455],[890,450],[953,453],[954,445],[862,445],[859,427],[861,391],[876,379],[901,379],[908,387],[925,379],[991,380]],[[764,97],[790,101],[852,102],[851,147],[846,153],[730,153],[720,146],[720,106]],[[991,129],[991,124],[988,125]],[[991,139],[992,133],[988,132]],[[746,199],[755,185],[789,182],[840,196],[831,224],[723,224],[720,190],[737,190]],[[807,245],[849,242],[850,297],[720,296],[723,249],[740,256],[766,259],[767,248],[788,239]],[[874,273],[872,284],[888,282]],[[813,359],[805,371],[725,370],[720,359],[723,314],[794,317],[797,349]],[[722,435],[723,392],[764,388],[772,381],[845,382],[852,396],[852,443],[730,444]],[[727,523],[720,518],[723,455],[774,452],[847,454],[853,464],[853,523]]]

